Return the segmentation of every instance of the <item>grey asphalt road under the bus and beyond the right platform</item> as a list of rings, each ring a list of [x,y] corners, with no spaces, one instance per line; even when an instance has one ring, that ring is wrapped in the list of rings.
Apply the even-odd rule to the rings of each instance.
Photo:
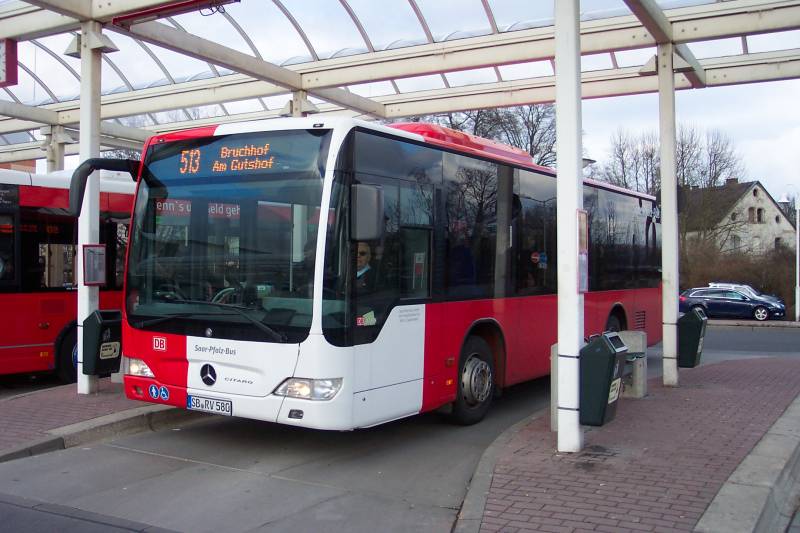
[[[703,364],[797,357],[800,329],[712,326],[704,346]],[[0,464],[0,529],[447,532],[486,447],[548,401],[537,380],[475,426],[426,414],[346,433],[212,417]]]

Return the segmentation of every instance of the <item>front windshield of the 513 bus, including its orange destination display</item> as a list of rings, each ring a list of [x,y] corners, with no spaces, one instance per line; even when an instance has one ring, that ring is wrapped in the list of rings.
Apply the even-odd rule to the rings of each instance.
[[[304,339],[329,144],[330,130],[288,130],[151,145],[131,232],[129,323]]]

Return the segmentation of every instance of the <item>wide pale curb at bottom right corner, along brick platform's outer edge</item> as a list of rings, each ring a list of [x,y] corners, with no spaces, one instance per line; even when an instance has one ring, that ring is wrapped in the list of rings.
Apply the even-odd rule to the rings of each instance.
[[[800,397],[712,500],[694,531],[785,531],[800,503]]]

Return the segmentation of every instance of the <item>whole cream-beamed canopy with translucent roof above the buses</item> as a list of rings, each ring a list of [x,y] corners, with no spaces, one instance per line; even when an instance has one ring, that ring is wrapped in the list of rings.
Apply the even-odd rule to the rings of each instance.
[[[319,113],[384,120],[551,102],[553,19],[553,2],[522,0],[0,0],[19,59],[0,162],[42,157],[48,126],[77,153],[81,21],[103,25],[101,143],[136,148],[279,116],[300,91]],[[677,89],[800,75],[800,1],[583,0],[580,27],[584,98],[655,92],[666,41]]]

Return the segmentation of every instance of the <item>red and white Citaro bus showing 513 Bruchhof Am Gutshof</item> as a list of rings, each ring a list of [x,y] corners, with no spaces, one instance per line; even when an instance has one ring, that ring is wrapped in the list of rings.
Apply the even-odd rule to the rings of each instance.
[[[146,145],[126,268],[128,397],[348,430],[549,373],[555,174],[427,124],[291,118]],[[587,182],[585,333],[660,340],[655,198]]]

